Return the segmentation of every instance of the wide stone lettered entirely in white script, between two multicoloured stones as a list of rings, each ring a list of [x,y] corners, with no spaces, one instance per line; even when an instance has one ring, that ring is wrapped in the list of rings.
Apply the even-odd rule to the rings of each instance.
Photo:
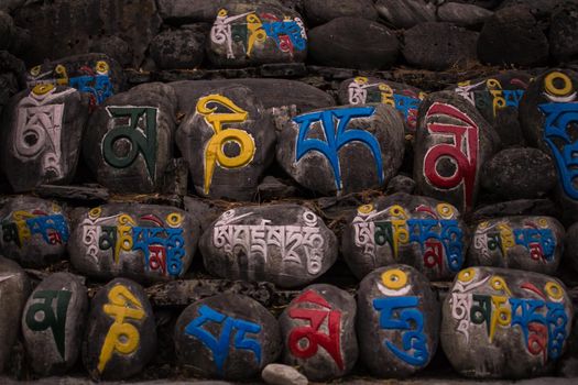
[[[280,287],[306,285],[337,258],[335,234],[315,212],[293,204],[228,210],[203,233],[199,248],[212,275]]]

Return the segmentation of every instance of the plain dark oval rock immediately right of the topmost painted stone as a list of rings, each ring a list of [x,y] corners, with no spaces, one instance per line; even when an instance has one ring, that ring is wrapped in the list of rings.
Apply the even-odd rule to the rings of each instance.
[[[360,18],[339,18],[308,32],[309,57],[329,67],[381,69],[397,59],[400,42],[385,25]]]

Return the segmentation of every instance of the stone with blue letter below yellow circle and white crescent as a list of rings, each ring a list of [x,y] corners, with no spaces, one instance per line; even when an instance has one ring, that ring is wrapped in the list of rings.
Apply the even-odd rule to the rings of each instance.
[[[359,359],[372,375],[408,377],[434,358],[440,306],[429,280],[415,268],[392,265],[371,272],[359,285],[357,307]]]

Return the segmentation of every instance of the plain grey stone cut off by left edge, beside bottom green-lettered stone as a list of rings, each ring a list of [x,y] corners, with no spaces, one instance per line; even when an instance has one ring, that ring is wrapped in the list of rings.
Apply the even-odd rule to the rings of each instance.
[[[0,255],[0,373],[18,338],[20,316],[30,294],[26,273],[14,261]]]

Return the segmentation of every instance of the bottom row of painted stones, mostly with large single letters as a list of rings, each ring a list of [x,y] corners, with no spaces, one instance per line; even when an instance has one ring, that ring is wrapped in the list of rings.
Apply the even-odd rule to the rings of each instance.
[[[94,380],[128,378],[155,355],[155,315],[137,283],[113,279],[88,306],[77,276],[50,275],[29,297],[24,272],[4,258],[0,268],[0,302],[12,310],[0,317],[2,363],[19,323],[40,375],[64,374],[81,352]],[[407,377],[429,364],[439,341],[462,375],[522,378],[552,372],[571,324],[564,285],[546,275],[467,268],[440,305],[425,276],[393,265],[362,279],[357,304],[335,286],[313,285],[279,321],[249,297],[198,300],[176,320],[173,342],[185,373],[211,378],[251,378],[280,356],[314,381],[343,376],[358,359],[375,376]]]

